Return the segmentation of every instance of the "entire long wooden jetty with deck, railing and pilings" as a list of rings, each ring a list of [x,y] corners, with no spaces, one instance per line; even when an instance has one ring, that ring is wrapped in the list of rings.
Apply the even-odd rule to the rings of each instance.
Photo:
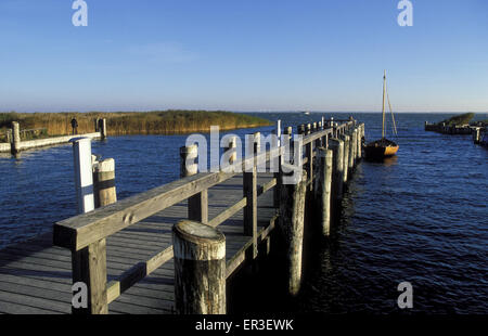
[[[286,127],[283,137],[292,131]],[[275,248],[277,237],[284,242],[287,292],[296,295],[304,220],[330,235],[331,215],[338,215],[344,183],[362,156],[364,125],[322,119],[298,133],[303,140],[269,151],[254,134],[254,156],[229,155],[234,167],[251,167],[243,172],[197,172],[189,165],[194,147],[184,147],[180,180],[119,202],[110,196],[114,163],[93,161],[90,141],[75,141],[80,215],[56,223],[50,237],[0,251],[0,311],[226,313],[228,283]],[[260,172],[259,163],[274,157],[280,169]],[[286,157],[298,166],[297,183],[286,182],[293,172]],[[319,216],[307,215],[310,208]],[[72,285],[80,283],[87,306],[72,307],[79,294]]]

